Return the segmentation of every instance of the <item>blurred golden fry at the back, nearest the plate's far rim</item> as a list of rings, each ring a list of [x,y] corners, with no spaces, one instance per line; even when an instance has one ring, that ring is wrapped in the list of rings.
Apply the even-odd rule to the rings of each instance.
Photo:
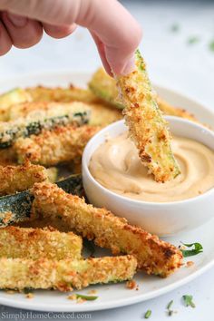
[[[34,102],[98,102],[98,98],[89,90],[74,87],[67,88],[48,88],[38,86],[26,88]]]

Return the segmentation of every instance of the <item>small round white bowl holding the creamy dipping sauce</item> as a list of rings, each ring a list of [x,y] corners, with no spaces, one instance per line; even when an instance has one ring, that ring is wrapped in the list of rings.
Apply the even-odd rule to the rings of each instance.
[[[178,117],[167,116],[166,119],[173,134],[199,141],[214,150],[213,131]],[[124,121],[112,123],[93,136],[83,152],[83,187],[94,206],[110,209],[131,224],[159,236],[195,229],[214,217],[214,188],[195,198],[162,203],[123,197],[94,180],[88,168],[93,152],[106,140],[107,135],[116,137],[124,131],[127,131]]]

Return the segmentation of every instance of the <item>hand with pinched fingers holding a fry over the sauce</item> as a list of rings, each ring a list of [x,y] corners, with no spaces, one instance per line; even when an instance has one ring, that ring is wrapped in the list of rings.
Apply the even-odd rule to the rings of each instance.
[[[0,55],[12,45],[37,44],[43,31],[53,38],[89,29],[107,73],[129,73],[141,27],[116,0],[0,0]]]

